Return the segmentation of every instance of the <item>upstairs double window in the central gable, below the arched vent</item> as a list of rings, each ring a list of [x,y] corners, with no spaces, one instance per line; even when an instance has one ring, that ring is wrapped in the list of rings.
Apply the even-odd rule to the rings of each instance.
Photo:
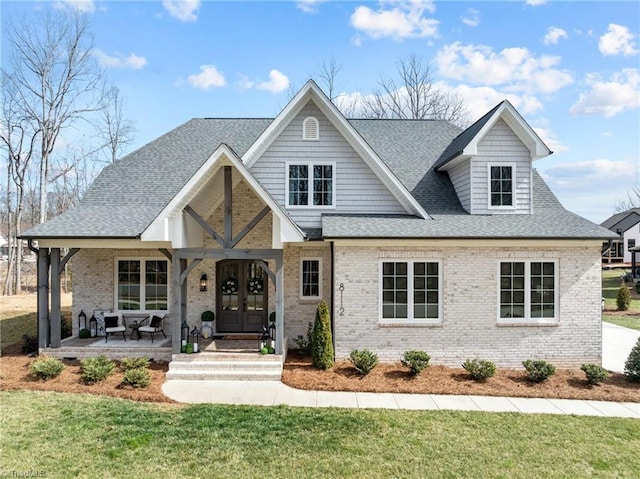
[[[334,206],[334,175],[334,163],[288,163],[287,206]]]

